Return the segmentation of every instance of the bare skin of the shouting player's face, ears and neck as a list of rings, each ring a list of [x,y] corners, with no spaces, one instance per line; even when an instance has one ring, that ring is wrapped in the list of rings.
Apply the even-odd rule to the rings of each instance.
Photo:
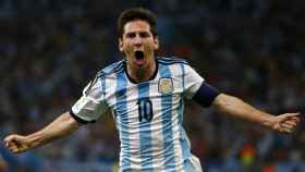
[[[136,82],[148,81],[156,70],[155,51],[159,48],[158,37],[144,21],[129,22],[119,38],[119,49],[125,54],[129,75]],[[144,59],[136,60],[135,51],[143,51]]]

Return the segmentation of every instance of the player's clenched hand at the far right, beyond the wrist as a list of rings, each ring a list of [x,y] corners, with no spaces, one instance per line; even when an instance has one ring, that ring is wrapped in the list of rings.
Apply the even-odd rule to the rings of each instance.
[[[292,133],[296,124],[301,121],[300,113],[284,113],[278,116],[272,116],[271,127],[280,133]]]

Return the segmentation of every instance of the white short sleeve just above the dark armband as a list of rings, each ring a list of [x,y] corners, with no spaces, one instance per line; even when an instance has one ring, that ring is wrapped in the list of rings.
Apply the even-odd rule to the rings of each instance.
[[[184,95],[192,99],[205,79],[190,65],[184,65]]]

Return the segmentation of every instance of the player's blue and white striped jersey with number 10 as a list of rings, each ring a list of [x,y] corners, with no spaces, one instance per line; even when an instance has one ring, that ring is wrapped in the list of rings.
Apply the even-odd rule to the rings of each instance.
[[[112,111],[123,172],[200,172],[182,122],[184,101],[194,96],[204,78],[184,60],[156,61],[156,75],[143,83],[129,77],[124,60],[103,69],[72,107],[72,115],[94,122],[108,109]]]

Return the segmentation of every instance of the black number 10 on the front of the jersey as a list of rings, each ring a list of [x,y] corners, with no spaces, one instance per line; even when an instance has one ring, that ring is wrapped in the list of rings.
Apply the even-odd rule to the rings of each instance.
[[[138,121],[143,120],[150,122],[152,120],[152,102],[149,99],[141,99],[137,101]]]

